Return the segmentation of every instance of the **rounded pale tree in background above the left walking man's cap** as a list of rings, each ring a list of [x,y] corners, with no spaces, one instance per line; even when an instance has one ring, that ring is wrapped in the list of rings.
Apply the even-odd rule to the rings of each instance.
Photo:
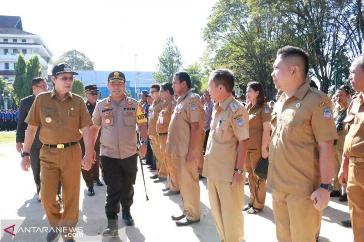
[[[54,63],[66,62],[72,70],[94,70],[95,63],[75,49],[64,52]]]

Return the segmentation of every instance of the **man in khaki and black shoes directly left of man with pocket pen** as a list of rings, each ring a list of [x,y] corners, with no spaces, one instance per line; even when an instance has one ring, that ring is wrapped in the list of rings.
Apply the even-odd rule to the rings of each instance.
[[[183,201],[183,214],[172,216],[177,225],[199,222],[201,216],[197,168],[202,155],[202,127],[205,120],[201,102],[192,93],[191,85],[187,72],[174,74],[172,87],[179,98],[168,128],[166,152],[172,154],[172,162],[177,167]]]

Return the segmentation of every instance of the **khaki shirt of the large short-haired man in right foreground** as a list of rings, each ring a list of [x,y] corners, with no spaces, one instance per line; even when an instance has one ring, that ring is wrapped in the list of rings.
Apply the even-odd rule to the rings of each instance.
[[[311,196],[320,187],[319,142],[339,138],[331,101],[305,83],[293,97],[281,95],[272,112],[267,185]]]

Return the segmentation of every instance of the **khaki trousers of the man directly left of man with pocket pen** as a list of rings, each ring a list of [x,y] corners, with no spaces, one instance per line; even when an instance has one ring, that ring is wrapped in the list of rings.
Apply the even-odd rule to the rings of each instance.
[[[187,219],[196,221],[201,217],[200,185],[197,167],[200,159],[186,161],[185,156],[172,154],[172,162],[177,168],[179,191],[183,202],[183,214]]]

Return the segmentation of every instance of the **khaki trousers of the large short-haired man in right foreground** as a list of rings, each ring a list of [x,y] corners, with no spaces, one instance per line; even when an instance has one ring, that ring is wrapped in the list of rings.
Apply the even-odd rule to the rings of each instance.
[[[316,242],[322,211],[310,197],[273,189],[273,214],[278,242]]]

